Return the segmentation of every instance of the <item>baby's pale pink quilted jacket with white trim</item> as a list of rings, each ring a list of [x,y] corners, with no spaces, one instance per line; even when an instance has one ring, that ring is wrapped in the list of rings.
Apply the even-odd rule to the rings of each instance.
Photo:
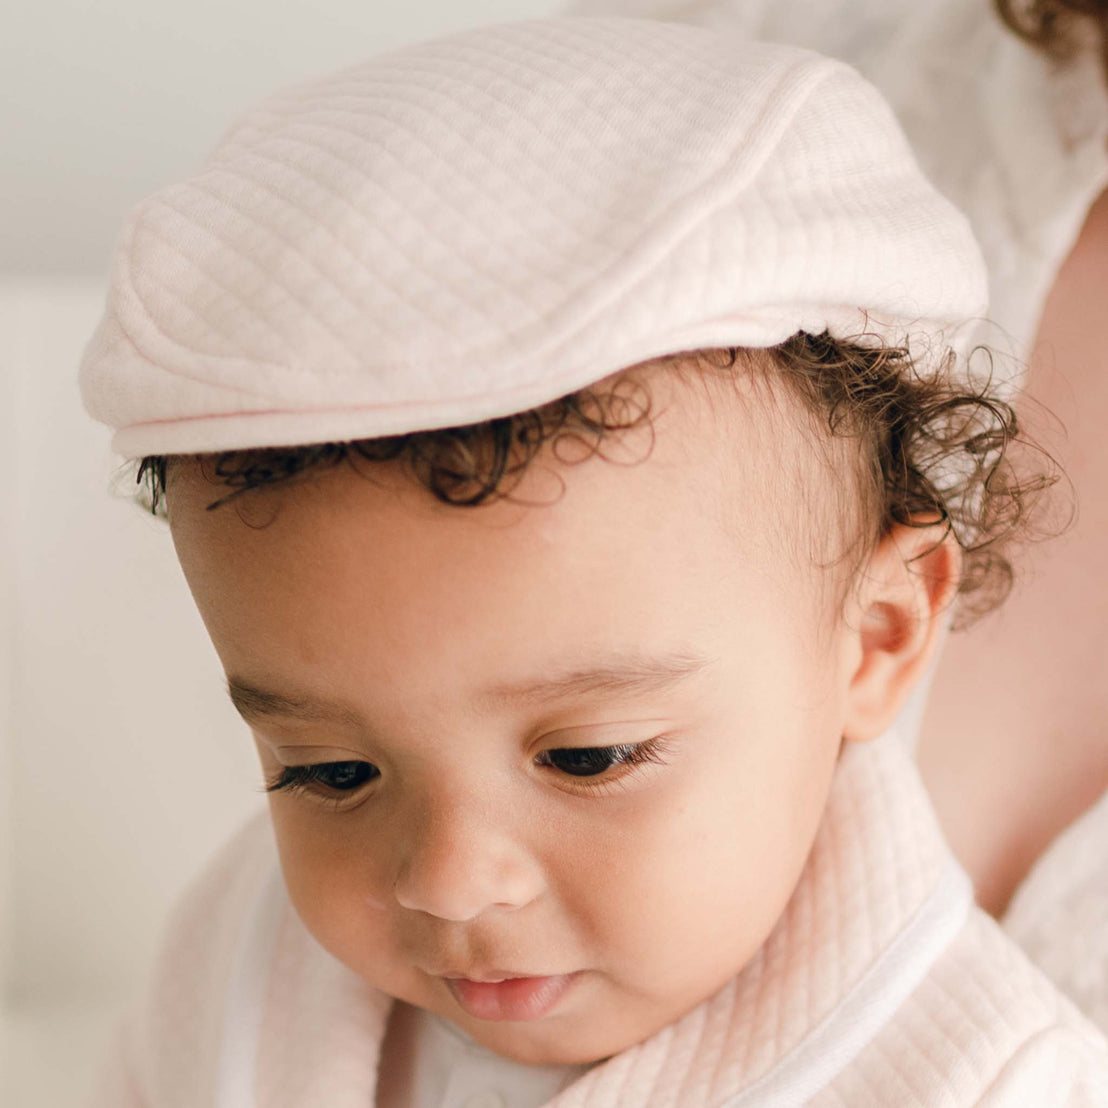
[[[281,891],[261,813],[184,897],[96,1108],[375,1102],[392,1002],[324,951]],[[1106,1098],[1108,1044],[972,906],[909,756],[882,741],[847,748],[797,889],[755,958],[548,1108]]]

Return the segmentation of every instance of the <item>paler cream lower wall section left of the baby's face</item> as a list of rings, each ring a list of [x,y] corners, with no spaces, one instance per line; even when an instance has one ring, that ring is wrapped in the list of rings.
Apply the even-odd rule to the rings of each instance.
[[[41,1097],[28,1085],[6,1099],[0,1086],[0,1104],[20,1108],[75,1102],[50,1085],[80,1071],[59,1068],[58,1042],[96,1060],[173,896],[263,803],[168,531],[110,493],[107,431],[81,409],[74,371],[103,296],[93,278],[0,283],[16,393],[2,432],[18,459],[4,994],[9,1080],[24,1074]]]

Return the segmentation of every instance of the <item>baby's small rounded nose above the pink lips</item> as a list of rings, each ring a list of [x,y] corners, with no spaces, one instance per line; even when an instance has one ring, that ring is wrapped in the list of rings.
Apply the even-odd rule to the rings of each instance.
[[[542,865],[517,829],[462,802],[443,802],[403,829],[393,894],[401,906],[465,922],[542,894]]]

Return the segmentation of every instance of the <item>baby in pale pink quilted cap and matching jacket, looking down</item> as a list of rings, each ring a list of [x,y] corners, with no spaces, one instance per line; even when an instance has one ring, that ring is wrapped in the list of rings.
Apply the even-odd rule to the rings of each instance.
[[[305,82],[141,204],[82,388],[269,812],[96,1104],[1108,1104],[881,738],[1007,585],[984,307],[858,74],[652,21]]]

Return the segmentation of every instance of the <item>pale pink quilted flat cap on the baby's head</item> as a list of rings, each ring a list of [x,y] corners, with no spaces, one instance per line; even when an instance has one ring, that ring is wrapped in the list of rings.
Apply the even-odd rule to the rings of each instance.
[[[131,212],[80,381],[125,456],[348,441],[797,330],[957,347],[985,307],[968,223],[854,70],[570,17],[258,102]]]

